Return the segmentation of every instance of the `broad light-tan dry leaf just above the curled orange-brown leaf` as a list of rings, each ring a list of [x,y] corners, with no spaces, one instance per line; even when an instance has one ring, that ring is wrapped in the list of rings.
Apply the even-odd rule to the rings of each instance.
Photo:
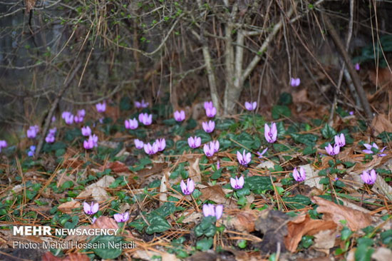
[[[324,220],[333,220],[336,224],[340,224],[340,220],[346,220],[349,228],[354,231],[371,225],[372,219],[368,213],[337,205],[324,198],[313,197],[311,200],[319,205],[317,212],[324,214]]]

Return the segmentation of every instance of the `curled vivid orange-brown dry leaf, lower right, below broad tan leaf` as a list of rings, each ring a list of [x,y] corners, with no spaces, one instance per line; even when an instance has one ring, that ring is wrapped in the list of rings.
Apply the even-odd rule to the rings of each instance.
[[[314,235],[321,230],[335,230],[336,227],[335,222],[331,220],[313,220],[307,214],[298,215],[287,223],[288,233],[284,237],[284,245],[290,252],[295,252],[304,235]]]

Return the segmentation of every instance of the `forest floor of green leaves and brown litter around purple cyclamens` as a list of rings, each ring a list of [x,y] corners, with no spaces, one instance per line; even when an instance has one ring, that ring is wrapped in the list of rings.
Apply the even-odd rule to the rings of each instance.
[[[85,107],[81,123],[67,124],[56,116],[51,123],[55,140],[47,140],[38,158],[30,152],[40,131],[26,138],[22,149],[7,144],[1,150],[1,257],[388,260],[391,123],[379,115],[368,128],[361,116],[338,108],[330,126],[327,115],[317,117],[322,108],[297,113],[298,104],[291,101],[284,93],[269,111],[255,113],[249,103],[235,116],[208,113],[195,120],[179,112],[173,116],[165,101],[135,108],[134,101],[122,97],[106,101],[105,108]],[[152,123],[143,119],[150,113]],[[125,123],[133,118],[136,123]],[[208,121],[215,123],[213,131],[205,126]],[[82,133],[86,126],[91,133]],[[89,147],[86,134],[92,133],[98,142]],[[336,140],[342,135],[344,142]],[[200,144],[190,137],[199,137]],[[135,148],[136,139],[153,148],[163,138],[160,151]],[[212,146],[209,155],[216,142],[219,148]],[[12,235],[12,225],[120,233],[23,237]],[[14,250],[16,240],[106,247]],[[134,247],[110,248],[109,242],[133,242]]]

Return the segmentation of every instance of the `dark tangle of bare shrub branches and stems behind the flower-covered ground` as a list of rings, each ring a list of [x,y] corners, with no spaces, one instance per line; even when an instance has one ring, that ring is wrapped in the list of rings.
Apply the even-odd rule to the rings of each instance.
[[[378,92],[373,109],[388,111],[379,94],[391,79],[392,1],[0,1],[0,136],[43,123],[77,66],[56,116],[123,97],[173,108],[212,98],[221,116],[252,100],[262,113],[302,89],[312,103],[361,112],[346,73],[339,83],[346,70],[322,14],[343,43],[352,35],[366,93]]]

